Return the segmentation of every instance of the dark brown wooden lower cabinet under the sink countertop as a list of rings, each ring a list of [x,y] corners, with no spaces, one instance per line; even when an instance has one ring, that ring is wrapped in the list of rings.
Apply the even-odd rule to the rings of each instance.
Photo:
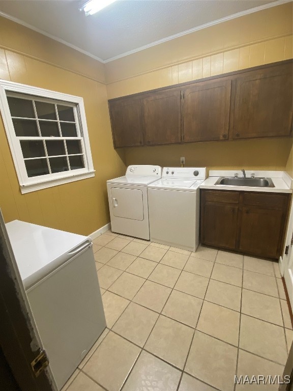
[[[201,189],[201,243],[278,259],[290,198],[288,193]]]

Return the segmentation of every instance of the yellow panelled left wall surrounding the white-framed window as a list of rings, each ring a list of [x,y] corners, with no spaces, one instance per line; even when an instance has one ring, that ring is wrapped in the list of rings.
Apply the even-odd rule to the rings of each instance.
[[[0,120],[0,207],[5,221],[20,219],[84,235],[107,224],[106,180],[125,172],[125,157],[113,149],[102,65],[1,18],[0,78],[83,97],[96,170],[94,178],[21,194]]]

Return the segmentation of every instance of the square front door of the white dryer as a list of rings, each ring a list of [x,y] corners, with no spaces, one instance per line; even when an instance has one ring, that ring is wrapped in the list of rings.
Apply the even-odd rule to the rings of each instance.
[[[116,217],[143,220],[142,191],[138,189],[111,188],[112,211]]]

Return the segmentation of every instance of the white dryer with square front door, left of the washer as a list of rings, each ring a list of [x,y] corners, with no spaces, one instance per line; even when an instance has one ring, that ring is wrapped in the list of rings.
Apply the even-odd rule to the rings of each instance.
[[[113,232],[150,240],[147,186],[161,176],[158,165],[129,165],[124,177],[107,181]]]

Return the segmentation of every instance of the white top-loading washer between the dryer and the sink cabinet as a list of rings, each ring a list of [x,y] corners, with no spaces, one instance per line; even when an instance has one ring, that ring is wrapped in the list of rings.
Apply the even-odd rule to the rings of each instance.
[[[205,167],[164,167],[148,186],[152,242],[195,252],[199,241],[199,185]]]

